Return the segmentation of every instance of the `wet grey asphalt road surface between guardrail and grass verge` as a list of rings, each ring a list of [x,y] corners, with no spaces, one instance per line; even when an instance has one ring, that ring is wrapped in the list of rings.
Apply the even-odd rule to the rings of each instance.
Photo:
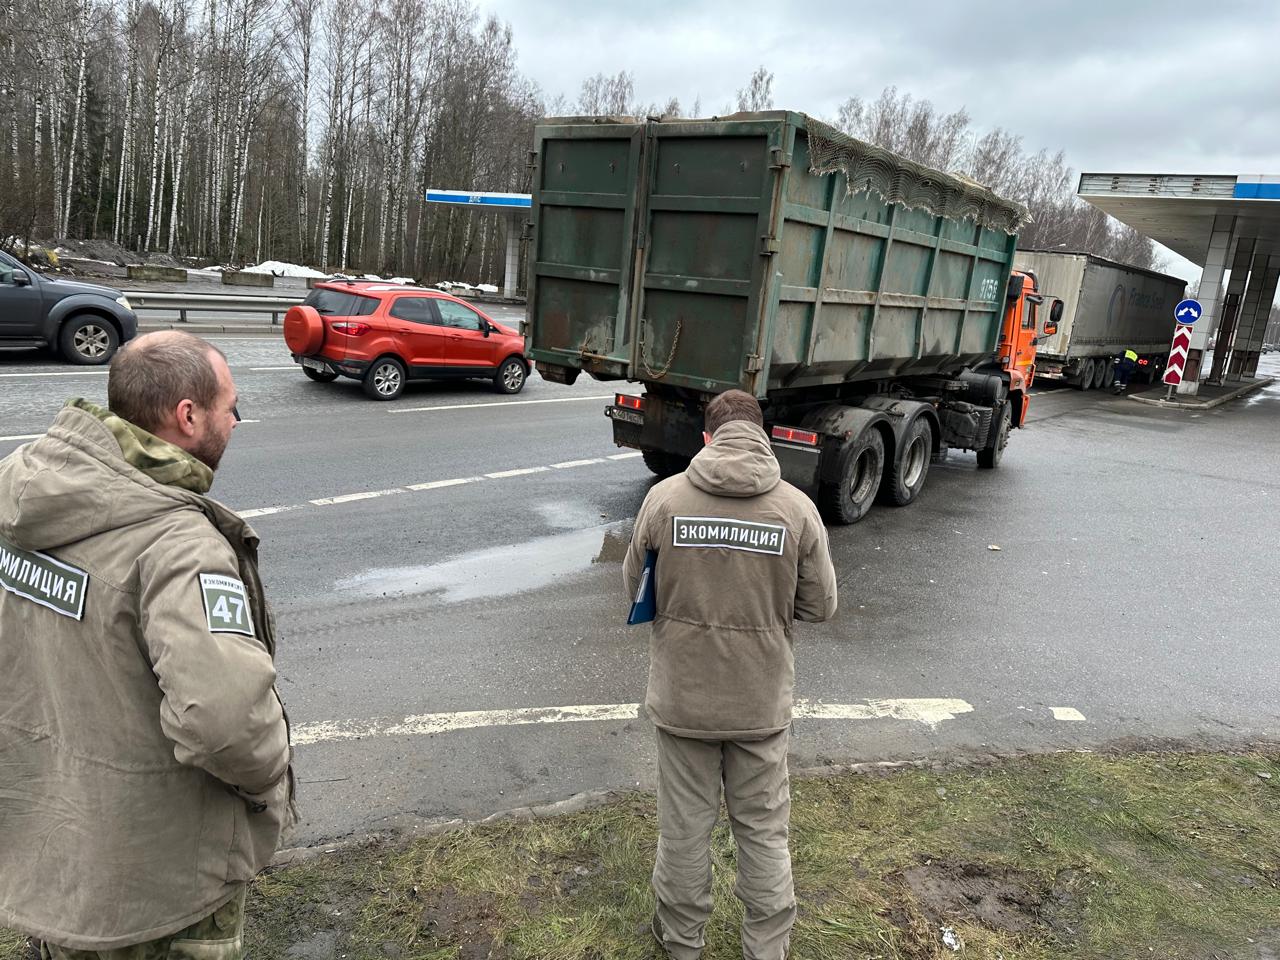
[[[643,719],[470,713],[643,700],[646,634],[622,625],[618,581],[650,476],[609,460],[612,385],[426,384],[385,404],[305,380],[278,340],[218,343],[260,422],[214,494],[287,508],[251,522],[306,740],[296,842],[652,785]],[[68,372],[0,358],[0,436],[104,398],[104,376]],[[911,507],[832,529],[840,613],[796,630],[797,696],[965,708],[800,719],[792,762],[1280,736],[1276,499],[1280,385],[1203,413],[1041,390],[998,471],[954,456]],[[447,716],[404,722],[422,714]]]

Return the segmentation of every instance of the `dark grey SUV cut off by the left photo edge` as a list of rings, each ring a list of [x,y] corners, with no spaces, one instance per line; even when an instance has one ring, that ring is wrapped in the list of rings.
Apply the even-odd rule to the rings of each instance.
[[[137,332],[119,291],[45,276],[0,252],[0,349],[56,347],[73,364],[105,364]]]

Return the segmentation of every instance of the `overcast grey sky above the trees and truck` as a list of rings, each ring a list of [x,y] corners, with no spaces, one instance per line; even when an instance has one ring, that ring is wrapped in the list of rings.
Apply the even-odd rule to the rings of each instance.
[[[630,70],[636,97],[719,113],[764,65],[778,109],[886,86],[965,108],[1091,173],[1280,174],[1280,3],[479,0],[548,97]],[[1170,268],[1198,270],[1172,253]],[[1175,269],[1176,268],[1176,269]]]

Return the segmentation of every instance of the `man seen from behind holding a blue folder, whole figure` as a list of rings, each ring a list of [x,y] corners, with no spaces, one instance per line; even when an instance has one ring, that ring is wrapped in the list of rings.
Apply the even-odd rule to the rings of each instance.
[[[781,480],[755,398],[722,393],[705,424],[689,470],[645,497],[623,563],[635,595],[646,552],[658,554],[645,698],[658,728],[654,936],[675,960],[701,954],[723,785],[742,956],[781,960],[795,922],[791,622],[836,612],[836,573],[817,508]]]

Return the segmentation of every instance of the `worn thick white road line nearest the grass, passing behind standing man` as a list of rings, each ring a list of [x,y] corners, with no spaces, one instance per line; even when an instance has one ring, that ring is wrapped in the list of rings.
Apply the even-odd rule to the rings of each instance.
[[[964,700],[868,700],[860,704],[824,704],[797,700],[796,718],[813,719],[908,719],[937,727],[959,713],[972,713]],[[293,726],[294,745],[332,744],[344,740],[390,736],[430,736],[477,727],[520,727],[532,723],[582,723],[586,721],[632,721],[640,717],[637,703],[584,704],[575,707],[524,707],[509,710],[461,710],[424,713],[413,717],[353,721],[319,721]]]

